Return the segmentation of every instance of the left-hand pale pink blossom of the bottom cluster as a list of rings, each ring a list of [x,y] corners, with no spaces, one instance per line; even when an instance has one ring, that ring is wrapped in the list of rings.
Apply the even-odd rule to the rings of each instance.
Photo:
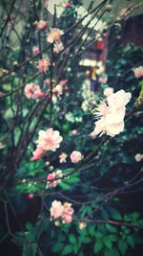
[[[63,211],[64,211],[64,206],[62,205],[61,201],[57,201],[54,200],[51,203],[51,217],[53,219],[58,219],[59,217],[61,217],[63,215]]]

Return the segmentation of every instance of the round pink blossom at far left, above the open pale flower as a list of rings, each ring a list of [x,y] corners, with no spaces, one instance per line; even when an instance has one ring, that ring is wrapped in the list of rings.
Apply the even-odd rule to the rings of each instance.
[[[36,85],[34,83],[28,83],[25,86],[24,92],[25,92],[25,96],[27,98],[36,99],[41,94],[41,89],[40,89],[39,85]]]

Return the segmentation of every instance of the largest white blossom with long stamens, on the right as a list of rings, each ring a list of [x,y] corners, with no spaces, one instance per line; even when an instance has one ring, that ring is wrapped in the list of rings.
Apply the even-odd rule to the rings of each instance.
[[[101,102],[92,113],[99,120],[95,122],[93,133],[95,135],[104,133],[114,137],[124,129],[124,117],[126,105],[130,102],[132,94],[119,90],[108,96],[106,101]]]

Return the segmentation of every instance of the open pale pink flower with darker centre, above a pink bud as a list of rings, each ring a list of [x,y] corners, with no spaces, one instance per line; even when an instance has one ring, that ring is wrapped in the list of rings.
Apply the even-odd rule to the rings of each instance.
[[[44,151],[56,151],[60,147],[60,143],[63,138],[60,136],[58,130],[53,130],[53,128],[48,128],[45,130],[40,130],[39,138],[37,140],[37,144]]]

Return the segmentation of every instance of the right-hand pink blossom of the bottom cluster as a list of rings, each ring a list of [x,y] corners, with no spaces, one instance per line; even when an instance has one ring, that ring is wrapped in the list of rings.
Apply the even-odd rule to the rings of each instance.
[[[74,210],[72,208],[72,203],[65,202],[63,206],[64,206],[64,210],[62,213],[62,219],[64,222],[70,223],[72,222],[72,215],[74,213]]]

